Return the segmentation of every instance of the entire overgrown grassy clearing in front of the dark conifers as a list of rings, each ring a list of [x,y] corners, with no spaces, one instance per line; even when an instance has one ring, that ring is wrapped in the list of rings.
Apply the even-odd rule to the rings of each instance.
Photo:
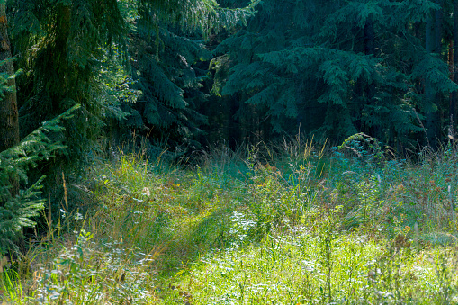
[[[457,161],[297,140],[199,166],[94,158],[49,234],[0,264],[0,301],[456,304]]]

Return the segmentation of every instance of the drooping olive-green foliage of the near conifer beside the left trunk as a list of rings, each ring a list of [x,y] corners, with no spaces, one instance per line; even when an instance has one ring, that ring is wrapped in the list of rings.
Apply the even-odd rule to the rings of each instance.
[[[8,8],[13,49],[24,71],[17,79],[22,135],[81,105],[55,135],[67,145],[66,154],[47,165],[55,178],[61,169],[80,165],[94,148],[107,112],[123,114],[100,98],[105,88],[99,81],[107,50],[122,45],[125,24],[112,0],[22,0]]]

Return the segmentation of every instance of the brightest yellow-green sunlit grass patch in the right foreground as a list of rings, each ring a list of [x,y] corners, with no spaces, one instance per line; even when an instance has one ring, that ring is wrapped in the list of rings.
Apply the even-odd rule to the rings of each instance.
[[[453,255],[357,231],[329,235],[327,229],[317,235],[301,228],[269,236],[261,245],[213,252],[175,285],[186,287],[197,304],[458,301]],[[174,299],[171,294],[165,303]]]

